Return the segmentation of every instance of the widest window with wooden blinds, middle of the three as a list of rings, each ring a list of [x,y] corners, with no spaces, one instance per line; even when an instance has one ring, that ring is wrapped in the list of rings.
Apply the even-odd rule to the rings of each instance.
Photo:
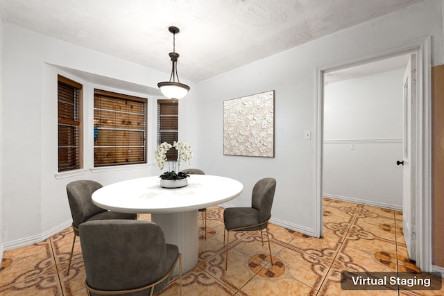
[[[94,167],[146,163],[146,98],[94,89]]]

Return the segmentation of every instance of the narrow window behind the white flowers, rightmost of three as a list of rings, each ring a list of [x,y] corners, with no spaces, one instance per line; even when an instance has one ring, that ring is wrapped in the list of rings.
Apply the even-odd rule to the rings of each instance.
[[[157,101],[157,145],[163,142],[173,145],[178,141],[178,103],[169,100]],[[170,149],[167,159],[177,159],[176,149]]]

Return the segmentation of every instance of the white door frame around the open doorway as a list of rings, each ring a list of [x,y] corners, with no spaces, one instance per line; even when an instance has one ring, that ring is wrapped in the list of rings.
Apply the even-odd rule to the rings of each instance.
[[[416,264],[425,272],[432,271],[432,94],[431,37],[413,40],[393,49],[355,60],[327,64],[315,69],[316,101],[314,104],[314,234],[323,234],[323,74],[359,64],[416,53]]]

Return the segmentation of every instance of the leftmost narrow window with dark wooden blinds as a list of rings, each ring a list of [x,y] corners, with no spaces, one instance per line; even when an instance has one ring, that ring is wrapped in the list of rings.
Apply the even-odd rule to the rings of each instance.
[[[82,85],[58,76],[58,171],[81,167],[82,125],[80,101]]]

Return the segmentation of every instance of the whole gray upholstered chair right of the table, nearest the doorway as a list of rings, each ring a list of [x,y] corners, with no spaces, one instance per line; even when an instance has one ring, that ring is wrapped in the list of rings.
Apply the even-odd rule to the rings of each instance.
[[[228,244],[230,243],[230,232],[245,232],[259,230],[261,232],[262,245],[264,237],[262,230],[266,230],[268,250],[270,260],[273,265],[271,255],[270,238],[268,236],[268,220],[271,218],[271,206],[275,196],[276,180],[264,178],[257,181],[251,194],[251,207],[227,208],[223,211],[223,224],[227,230],[227,246],[225,251],[225,270],[228,267]],[[225,230],[223,232],[223,243],[225,243]]]

